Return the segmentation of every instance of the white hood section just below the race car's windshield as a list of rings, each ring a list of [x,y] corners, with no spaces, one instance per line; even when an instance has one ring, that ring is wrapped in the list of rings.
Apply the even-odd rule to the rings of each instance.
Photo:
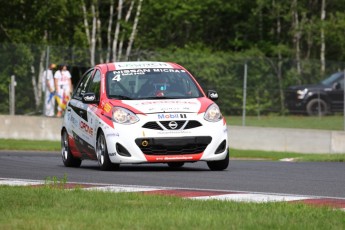
[[[145,114],[169,112],[197,113],[202,107],[202,103],[198,99],[124,100],[122,103]]]

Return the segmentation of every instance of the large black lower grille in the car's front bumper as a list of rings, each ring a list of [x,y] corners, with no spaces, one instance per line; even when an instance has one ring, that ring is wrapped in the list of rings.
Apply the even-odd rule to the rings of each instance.
[[[211,140],[210,136],[138,138],[135,143],[147,155],[184,155],[203,152]]]

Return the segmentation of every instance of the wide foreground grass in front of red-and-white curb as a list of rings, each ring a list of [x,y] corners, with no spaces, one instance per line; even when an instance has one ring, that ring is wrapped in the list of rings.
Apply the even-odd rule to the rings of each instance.
[[[344,229],[345,212],[298,203],[0,186],[0,229]]]

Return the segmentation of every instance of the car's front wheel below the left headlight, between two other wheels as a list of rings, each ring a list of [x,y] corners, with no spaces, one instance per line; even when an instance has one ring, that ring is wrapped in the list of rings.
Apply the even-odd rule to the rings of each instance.
[[[104,137],[103,132],[100,132],[97,136],[96,155],[98,165],[102,171],[111,171],[119,169],[120,165],[112,163],[109,159],[107,141]]]

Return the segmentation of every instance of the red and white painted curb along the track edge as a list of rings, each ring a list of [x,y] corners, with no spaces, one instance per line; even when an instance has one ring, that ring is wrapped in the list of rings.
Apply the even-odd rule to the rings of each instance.
[[[0,185],[9,186],[42,186],[51,181],[41,180],[22,180],[0,178]],[[59,182],[57,182],[59,183]],[[91,183],[65,183],[64,188],[80,188],[84,190],[106,191],[106,192],[140,192],[143,194],[178,196],[197,200],[223,200],[236,202],[291,202],[304,203],[315,206],[328,206],[345,211],[345,198],[335,197],[316,197],[300,196],[290,194],[269,194],[242,191],[219,191],[219,190],[201,190],[201,189],[182,189],[182,188],[164,188],[164,187],[145,187],[145,186],[124,186],[110,184],[91,184]]]

